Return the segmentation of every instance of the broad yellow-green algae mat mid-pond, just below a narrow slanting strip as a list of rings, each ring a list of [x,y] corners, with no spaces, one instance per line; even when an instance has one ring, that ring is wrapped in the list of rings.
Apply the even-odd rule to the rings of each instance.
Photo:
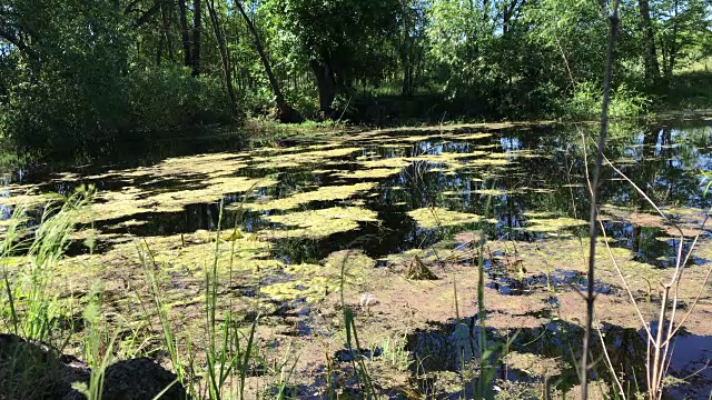
[[[285,216],[266,216],[266,220],[288,227],[288,230],[261,232],[266,238],[319,239],[337,232],[348,232],[358,228],[358,222],[377,222],[374,211],[359,207],[333,207],[320,210],[291,212]]]

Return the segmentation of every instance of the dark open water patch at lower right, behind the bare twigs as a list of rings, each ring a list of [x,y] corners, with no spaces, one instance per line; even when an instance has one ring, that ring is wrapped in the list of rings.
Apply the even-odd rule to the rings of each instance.
[[[537,316],[543,317],[543,316]],[[414,362],[411,372],[418,382],[419,390],[436,398],[458,399],[463,392],[466,398],[472,396],[472,388],[477,381],[479,370],[479,326],[476,316],[449,323],[431,323],[431,328],[416,330],[407,336],[406,350],[411,351]],[[532,383],[540,391],[545,384],[551,390],[563,393],[571,391],[578,383],[577,349],[583,341],[583,329],[576,324],[551,319],[538,328],[533,329],[486,329],[487,347],[498,346],[493,360],[496,367],[495,380],[518,381]],[[643,330],[624,329],[605,324],[601,333],[607,357],[616,373],[623,372],[624,388],[645,390],[645,358],[646,341]],[[511,342],[505,351],[503,347]],[[611,371],[604,361],[603,347],[600,340],[594,341],[592,357],[595,361],[591,370],[591,379],[601,379],[609,388],[615,384]],[[531,370],[531,362],[521,363],[508,354],[525,354],[525,358],[536,360],[546,358],[556,360],[556,367],[544,371]],[[665,392],[668,399],[708,399],[712,388],[712,337],[696,336],[682,332],[673,342],[672,358],[669,373],[684,379]],[[514,360],[514,361],[513,361]],[[438,380],[444,373],[455,372],[459,388],[443,392],[446,387]],[[494,388],[494,383],[493,383]],[[497,389],[494,388],[496,391]],[[614,396],[611,392],[611,396]]]

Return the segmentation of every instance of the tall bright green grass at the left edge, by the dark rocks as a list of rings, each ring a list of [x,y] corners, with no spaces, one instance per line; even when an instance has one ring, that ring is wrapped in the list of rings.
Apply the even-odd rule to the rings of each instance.
[[[9,363],[3,361],[0,372],[6,377],[14,376],[14,379],[2,380],[0,394],[3,398],[48,396],[56,380],[60,379],[57,354],[71,339],[71,333],[61,328],[61,321],[71,320],[75,299],[70,297],[60,301],[59,293],[52,288],[76,218],[93,196],[93,188],[80,187],[69,198],[50,202],[42,211],[40,223],[32,230],[24,226],[27,208],[20,206],[7,226],[0,242],[4,294],[0,300],[0,312],[6,322],[4,330],[24,338],[28,343],[8,344],[8,349],[3,349],[13,353],[9,357],[2,354]],[[17,260],[14,254],[22,256]],[[16,260],[11,264],[13,258]],[[83,312],[83,319],[90,321],[83,349],[92,369],[89,382],[77,386],[91,400],[100,398],[103,371],[113,342],[110,341],[106,348],[97,322],[99,300],[95,294],[90,296]],[[43,349],[40,351],[47,354],[39,357],[37,351],[30,350],[32,347]]]

